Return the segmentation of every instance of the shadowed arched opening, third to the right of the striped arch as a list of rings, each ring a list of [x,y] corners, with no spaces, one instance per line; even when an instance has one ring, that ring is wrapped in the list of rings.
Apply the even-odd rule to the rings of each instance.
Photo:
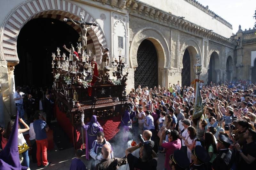
[[[212,52],[208,66],[207,84],[219,82],[220,57],[216,51]]]

